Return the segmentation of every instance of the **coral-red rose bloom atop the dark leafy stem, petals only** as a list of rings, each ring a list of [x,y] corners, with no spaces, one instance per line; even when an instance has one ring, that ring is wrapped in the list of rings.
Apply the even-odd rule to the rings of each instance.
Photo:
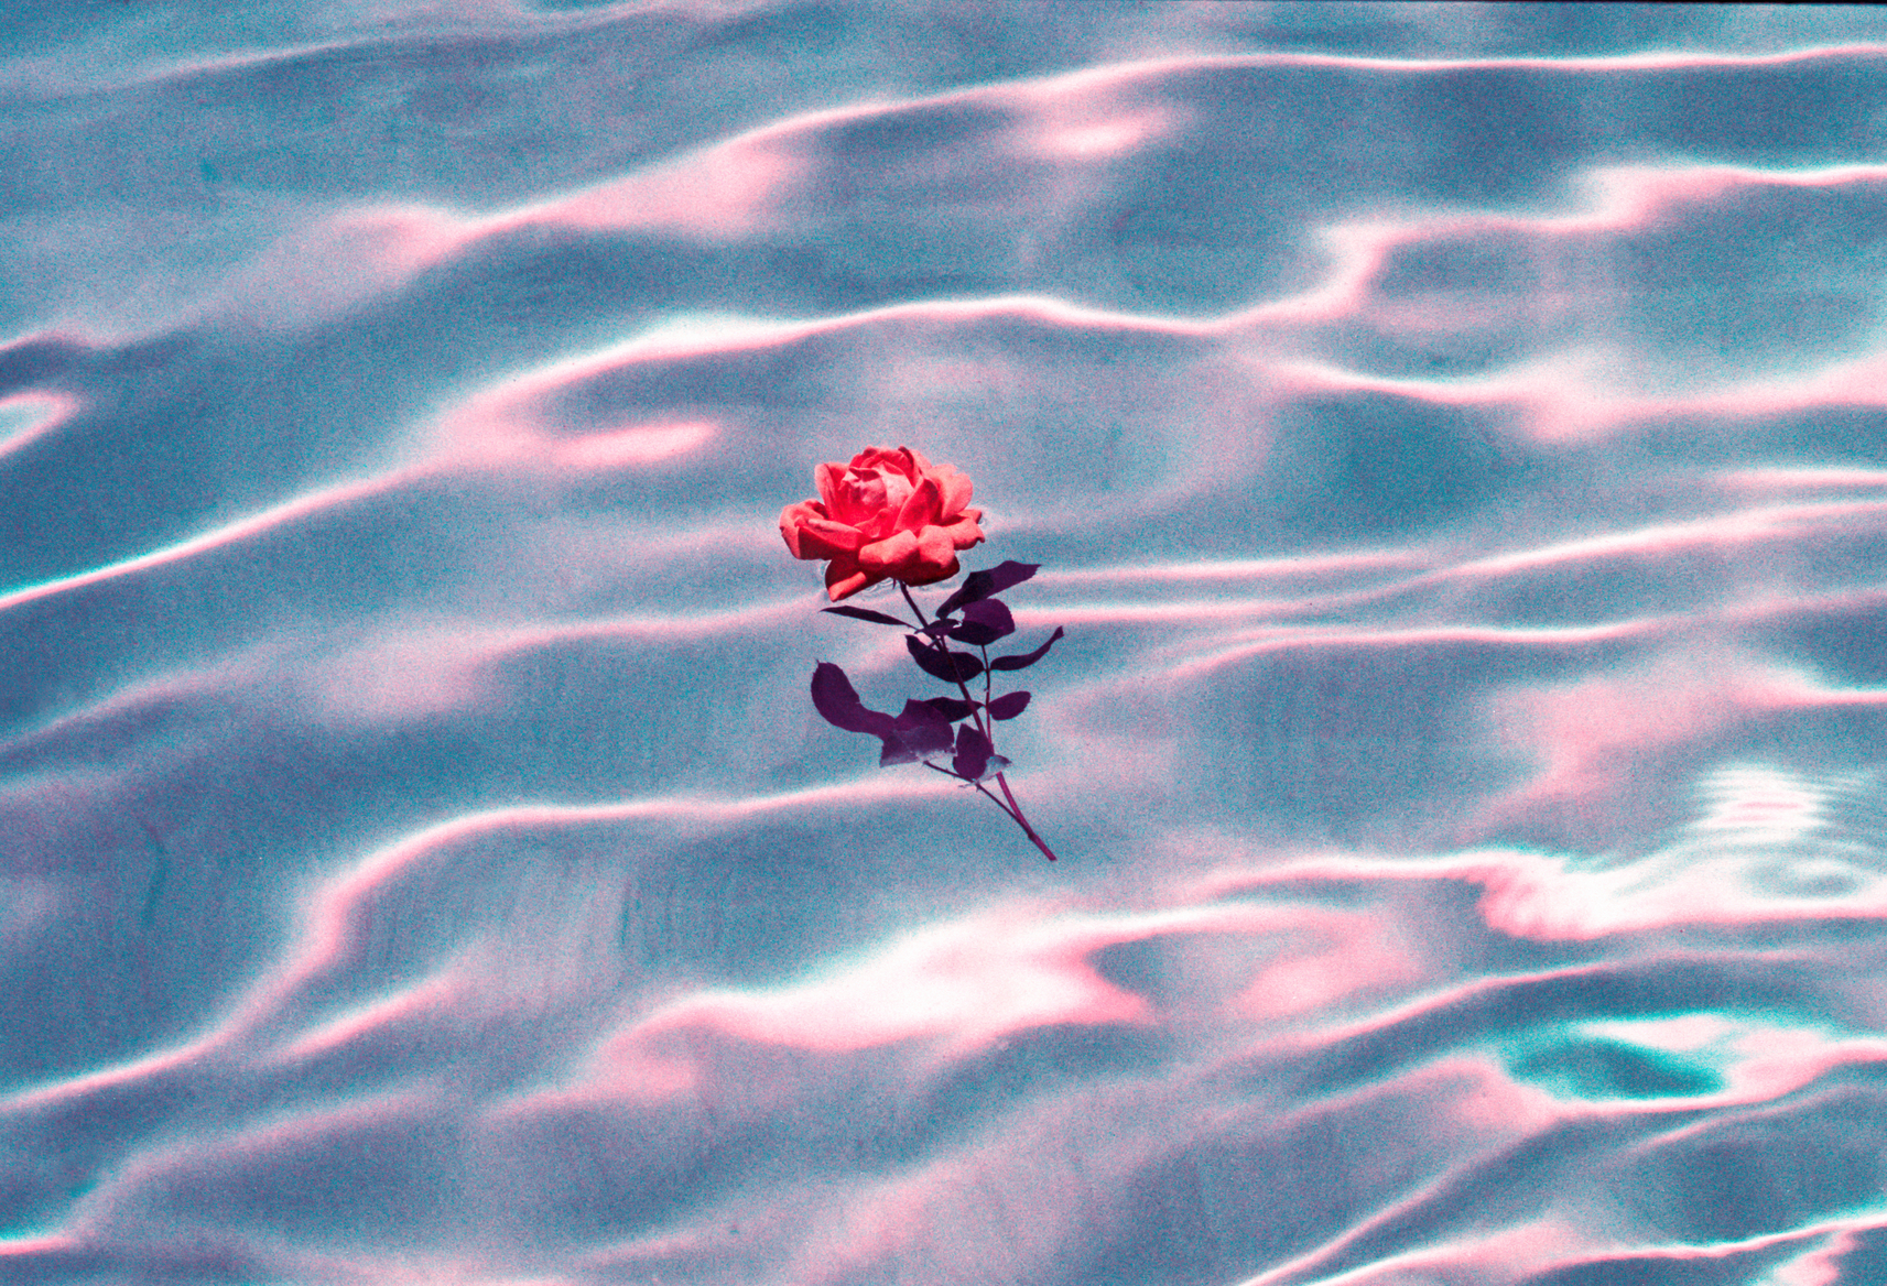
[[[879,581],[947,581],[957,551],[983,541],[983,511],[966,507],[970,479],[910,447],[866,447],[851,464],[821,464],[813,479],[819,500],[781,509],[779,534],[794,558],[830,558],[834,603]]]

